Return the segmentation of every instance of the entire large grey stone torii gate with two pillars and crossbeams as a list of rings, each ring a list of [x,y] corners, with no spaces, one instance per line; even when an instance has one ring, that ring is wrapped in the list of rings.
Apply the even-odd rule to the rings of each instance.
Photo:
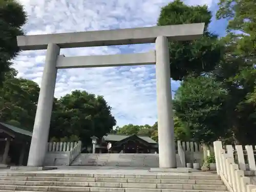
[[[194,40],[203,33],[204,23],[17,36],[22,50],[47,49],[42,74],[28,166],[43,166],[49,135],[52,104],[58,69],[156,64],[159,167],[176,168],[172,90],[168,40]],[[156,44],[156,50],[137,54],[65,57],[61,48]]]

